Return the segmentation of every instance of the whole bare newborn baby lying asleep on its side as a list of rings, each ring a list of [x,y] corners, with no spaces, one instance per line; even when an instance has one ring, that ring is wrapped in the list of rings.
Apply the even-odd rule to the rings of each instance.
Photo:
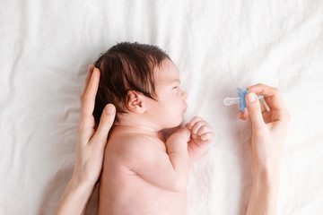
[[[100,84],[93,116],[107,103],[117,110],[100,176],[99,214],[187,214],[188,171],[214,132],[195,116],[166,140],[163,129],[182,123],[187,94],[179,71],[161,48],[118,43],[95,62]]]

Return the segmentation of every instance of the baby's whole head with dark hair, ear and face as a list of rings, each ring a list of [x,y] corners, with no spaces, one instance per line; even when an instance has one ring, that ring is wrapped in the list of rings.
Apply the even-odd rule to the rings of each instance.
[[[116,124],[131,121],[156,130],[180,125],[187,94],[179,87],[179,71],[160,47],[118,43],[94,63],[100,84],[93,116],[99,125],[103,108],[112,103]]]

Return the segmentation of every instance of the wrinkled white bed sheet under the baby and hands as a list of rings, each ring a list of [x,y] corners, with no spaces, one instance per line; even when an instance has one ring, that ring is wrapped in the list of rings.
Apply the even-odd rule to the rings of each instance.
[[[292,114],[277,214],[323,214],[323,2],[0,2],[0,214],[51,214],[74,165],[87,65],[120,41],[158,45],[177,63],[188,113],[214,126],[190,172],[188,214],[244,214],[250,123],[223,99],[263,82]],[[88,214],[95,213],[97,193]]]

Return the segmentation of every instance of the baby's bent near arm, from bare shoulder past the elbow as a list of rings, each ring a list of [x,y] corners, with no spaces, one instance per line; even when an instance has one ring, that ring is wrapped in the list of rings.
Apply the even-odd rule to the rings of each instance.
[[[124,165],[151,185],[171,192],[186,189],[189,159],[186,128],[173,133],[166,142],[167,153],[144,136],[127,139],[122,145]]]

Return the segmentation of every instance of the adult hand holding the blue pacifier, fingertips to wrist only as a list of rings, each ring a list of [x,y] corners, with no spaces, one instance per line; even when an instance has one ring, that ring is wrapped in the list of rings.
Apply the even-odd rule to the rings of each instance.
[[[252,163],[256,170],[272,170],[280,166],[283,144],[291,116],[284,105],[279,90],[256,84],[247,88],[247,108],[240,119],[251,119]],[[266,108],[259,102],[258,95],[263,95]]]

